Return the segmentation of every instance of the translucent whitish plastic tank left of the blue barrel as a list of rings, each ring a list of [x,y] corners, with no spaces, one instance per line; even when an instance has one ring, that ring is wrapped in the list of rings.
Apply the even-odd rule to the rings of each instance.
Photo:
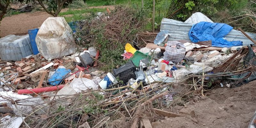
[[[0,58],[3,61],[20,61],[33,54],[28,35],[8,35],[0,39]]]

